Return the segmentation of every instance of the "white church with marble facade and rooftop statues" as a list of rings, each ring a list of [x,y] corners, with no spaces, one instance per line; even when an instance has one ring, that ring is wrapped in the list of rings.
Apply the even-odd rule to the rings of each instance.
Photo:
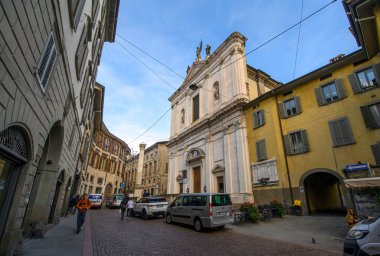
[[[168,194],[227,192],[252,200],[246,118],[250,99],[277,82],[246,64],[246,38],[232,33],[213,54],[201,45],[172,103]]]

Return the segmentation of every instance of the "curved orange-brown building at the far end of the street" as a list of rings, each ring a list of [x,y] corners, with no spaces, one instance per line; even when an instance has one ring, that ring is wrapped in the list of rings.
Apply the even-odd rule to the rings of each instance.
[[[124,193],[125,160],[130,155],[130,149],[124,141],[110,133],[103,122],[93,138],[80,192],[103,194],[105,203],[111,195]]]

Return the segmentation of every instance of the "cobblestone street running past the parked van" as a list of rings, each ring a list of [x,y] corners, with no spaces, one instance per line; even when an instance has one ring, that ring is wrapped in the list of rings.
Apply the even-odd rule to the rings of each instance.
[[[333,251],[241,234],[232,228],[195,232],[163,218],[121,222],[118,210],[93,210],[94,255],[340,255]]]

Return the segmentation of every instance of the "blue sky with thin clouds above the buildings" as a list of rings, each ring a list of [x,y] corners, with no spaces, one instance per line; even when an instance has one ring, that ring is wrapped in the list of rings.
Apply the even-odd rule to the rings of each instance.
[[[263,44],[331,0],[122,0],[120,1],[115,43],[104,45],[97,80],[106,87],[103,121],[114,135],[134,151],[170,136],[168,98],[183,78],[121,37],[143,49],[171,69],[186,76],[194,62],[196,47],[203,41],[211,53],[234,31],[248,38],[246,52]],[[340,0],[301,25],[297,78],[323,65],[341,53],[358,49],[348,30],[349,23]],[[247,63],[279,82],[293,80],[299,26],[247,56]],[[119,36],[121,37],[119,37]],[[149,66],[161,78],[156,76]],[[169,85],[165,82],[167,81]]]

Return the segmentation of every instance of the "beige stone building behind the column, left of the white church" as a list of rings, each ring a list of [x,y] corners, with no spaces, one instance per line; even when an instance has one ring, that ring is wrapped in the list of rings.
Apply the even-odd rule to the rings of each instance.
[[[133,194],[138,198],[143,195],[167,194],[168,151],[166,143],[167,141],[156,142],[144,150],[142,195],[135,195],[139,154],[131,156],[126,161],[126,188],[129,194]]]

